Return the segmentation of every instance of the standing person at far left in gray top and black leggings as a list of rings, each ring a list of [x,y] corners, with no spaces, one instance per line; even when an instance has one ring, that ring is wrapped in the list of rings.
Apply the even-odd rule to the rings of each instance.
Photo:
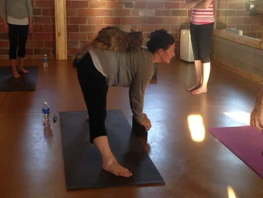
[[[0,16],[4,31],[8,32],[12,77],[20,78],[20,74],[29,73],[24,69],[23,63],[28,32],[33,31],[31,0],[1,0]]]

